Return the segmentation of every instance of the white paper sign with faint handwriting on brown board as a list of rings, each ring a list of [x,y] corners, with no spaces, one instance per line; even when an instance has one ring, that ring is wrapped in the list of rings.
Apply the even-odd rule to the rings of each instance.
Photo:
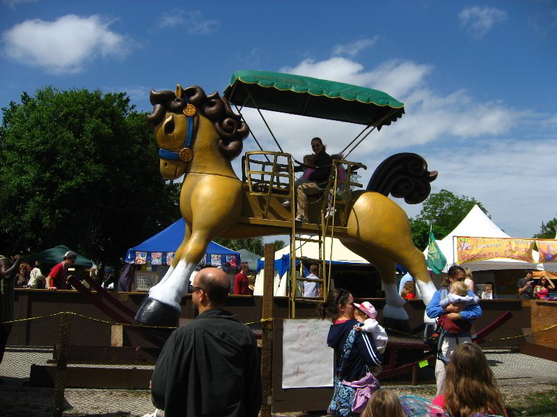
[[[333,386],[334,351],[327,346],[331,322],[284,320],[283,388]]]

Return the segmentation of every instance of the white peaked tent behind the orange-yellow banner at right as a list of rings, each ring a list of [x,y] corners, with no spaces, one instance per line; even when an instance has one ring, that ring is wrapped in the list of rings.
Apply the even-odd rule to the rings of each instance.
[[[444,272],[455,263],[455,236],[470,236],[479,238],[510,238],[508,234],[499,229],[490,218],[482,211],[478,205],[473,206],[470,213],[466,215],[464,220],[455,227],[453,231],[442,240],[436,240],[441,252],[447,259],[447,266]],[[427,258],[427,248],[423,251]],[[538,252],[533,251],[534,261],[540,259]],[[464,268],[470,268],[472,271],[485,270],[515,270],[515,269],[532,269],[532,270],[548,270],[557,272],[557,263],[531,263],[524,261],[516,261],[515,259],[489,259],[487,261],[473,261],[463,263]]]

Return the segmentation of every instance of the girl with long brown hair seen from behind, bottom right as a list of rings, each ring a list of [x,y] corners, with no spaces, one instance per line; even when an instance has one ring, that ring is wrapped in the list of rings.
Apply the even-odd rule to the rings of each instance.
[[[458,345],[446,369],[442,393],[433,404],[454,417],[475,413],[507,416],[493,371],[476,343]]]

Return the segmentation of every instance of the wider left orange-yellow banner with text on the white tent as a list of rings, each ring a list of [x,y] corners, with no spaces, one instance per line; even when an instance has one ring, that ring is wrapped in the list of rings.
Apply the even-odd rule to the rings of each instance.
[[[457,236],[457,263],[505,258],[533,262],[533,239]]]

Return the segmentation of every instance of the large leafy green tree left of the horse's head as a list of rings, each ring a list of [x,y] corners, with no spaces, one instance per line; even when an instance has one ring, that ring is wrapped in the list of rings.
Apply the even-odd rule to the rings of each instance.
[[[180,216],[155,136],[125,93],[45,87],[2,108],[0,239],[65,244],[102,267]]]

